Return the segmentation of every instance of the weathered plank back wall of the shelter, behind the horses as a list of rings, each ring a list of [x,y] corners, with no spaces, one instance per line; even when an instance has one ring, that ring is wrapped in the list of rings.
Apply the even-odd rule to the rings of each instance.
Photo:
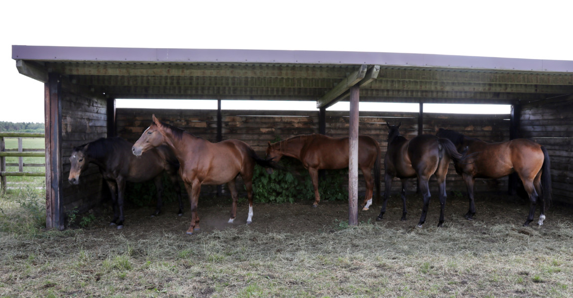
[[[183,128],[211,142],[217,139],[216,110],[147,110],[137,108],[117,108],[117,135],[129,142],[139,139],[142,132],[151,123],[151,115],[160,120]],[[406,138],[418,135],[418,113],[407,112],[360,112],[359,133],[372,136],[381,146],[382,159],[386,152],[386,122],[402,122],[401,133]],[[240,139],[248,143],[259,156],[264,156],[268,142],[286,139],[301,134],[318,133],[318,111],[222,111],[222,136],[225,139]],[[424,114],[424,131],[435,134],[439,127],[460,131],[467,136],[483,139],[487,142],[499,142],[509,139],[509,115],[460,115],[460,114]],[[326,134],[329,136],[348,135],[348,112],[327,111]],[[381,177],[383,180],[383,164]],[[412,179],[415,180],[415,179]],[[432,179],[435,181],[435,178]],[[437,190],[431,181],[432,190]],[[415,181],[409,188],[415,191]],[[345,184],[347,186],[347,184]],[[384,182],[381,182],[383,189]],[[242,186],[237,187],[242,190]],[[393,193],[400,189],[398,179],[394,180]],[[465,191],[465,184],[450,165],[448,190]],[[476,191],[505,191],[507,178],[499,180],[478,179]],[[202,192],[214,193],[215,188],[202,188]],[[362,175],[359,177],[359,191],[364,192]]]

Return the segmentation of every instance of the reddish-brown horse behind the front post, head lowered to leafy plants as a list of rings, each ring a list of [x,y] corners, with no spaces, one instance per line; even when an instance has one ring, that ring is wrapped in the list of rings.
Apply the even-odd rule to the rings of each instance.
[[[281,142],[270,143],[266,147],[266,158],[275,162],[282,155],[296,158],[308,169],[315,190],[315,203],[320,202],[319,170],[337,170],[348,167],[348,137],[330,138],[329,136],[312,134],[297,135]],[[374,179],[371,176],[374,166]],[[372,204],[372,185],[376,184],[376,192],[380,197],[380,146],[370,136],[358,136],[358,167],[366,180],[366,196],[364,196],[363,210],[368,210]]]

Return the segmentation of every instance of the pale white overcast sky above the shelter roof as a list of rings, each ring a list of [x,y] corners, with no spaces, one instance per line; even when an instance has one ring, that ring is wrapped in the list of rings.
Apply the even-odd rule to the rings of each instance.
[[[18,74],[11,45],[573,60],[573,1],[35,2],[0,2],[1,121],[44,122],[44,84]]]

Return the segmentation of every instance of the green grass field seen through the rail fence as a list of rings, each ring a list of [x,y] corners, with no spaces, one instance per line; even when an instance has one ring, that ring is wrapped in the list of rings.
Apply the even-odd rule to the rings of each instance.
[[[5,138],[6,149],[17,149],[18,148],[18,138]],[[22,139],[23,148],[38,149],[45,147],[44,138],[23,138]],[[25,157],[23,158],[24,163],[45,163],[45,158],[43,157]],[[7,157],[6,163],[18,163],[17,157]],[[18,167],[6,167],[8,172],[17,172]],[[44,167],[24,167],[25,172],[44,172]],[[26,185],[32,187],[41,187],[45,184],[44,177],[18,177],[18,176],[8,176],[6,177],[7,183],[10,188],[19,188]]]

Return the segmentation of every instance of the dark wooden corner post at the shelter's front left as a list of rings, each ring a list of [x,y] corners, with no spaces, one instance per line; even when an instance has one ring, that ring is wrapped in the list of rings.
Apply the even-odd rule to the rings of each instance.
[[[50,73],[44,85],[46,131],[46,227],[64,229],[62,212],[62,104],[60,75]]]

